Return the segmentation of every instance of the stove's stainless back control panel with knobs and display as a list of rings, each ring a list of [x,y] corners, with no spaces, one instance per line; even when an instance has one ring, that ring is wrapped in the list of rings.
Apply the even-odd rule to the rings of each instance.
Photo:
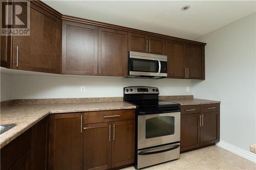
[[[124,94],[159,94],[157,87],[130,86],[123,88]]]

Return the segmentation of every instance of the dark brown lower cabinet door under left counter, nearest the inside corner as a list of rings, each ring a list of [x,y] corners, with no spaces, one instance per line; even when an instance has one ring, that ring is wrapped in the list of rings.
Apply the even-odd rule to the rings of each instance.
[[[48,169],[49,117],[32,127],[30,169]]]

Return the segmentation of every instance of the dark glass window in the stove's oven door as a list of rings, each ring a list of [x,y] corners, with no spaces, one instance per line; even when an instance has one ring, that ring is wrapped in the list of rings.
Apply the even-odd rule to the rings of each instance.
[[[146,139],[174,134],[174,116],[158,116],[146,119]]]

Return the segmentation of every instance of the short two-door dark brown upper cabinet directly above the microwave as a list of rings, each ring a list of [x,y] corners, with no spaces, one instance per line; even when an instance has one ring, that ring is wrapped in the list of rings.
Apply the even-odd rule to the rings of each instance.
[[[129,33],[129,51],[164,54],[164,38]]]

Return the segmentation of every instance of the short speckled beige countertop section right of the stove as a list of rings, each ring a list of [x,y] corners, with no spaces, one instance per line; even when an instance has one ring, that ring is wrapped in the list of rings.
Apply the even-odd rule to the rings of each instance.
[[[181,106],[221,103],[220,101],[210,101],[210,100],[195,99],[195,98],[193,98],[193,99],[167,99],[165,101],[179,103]]]

